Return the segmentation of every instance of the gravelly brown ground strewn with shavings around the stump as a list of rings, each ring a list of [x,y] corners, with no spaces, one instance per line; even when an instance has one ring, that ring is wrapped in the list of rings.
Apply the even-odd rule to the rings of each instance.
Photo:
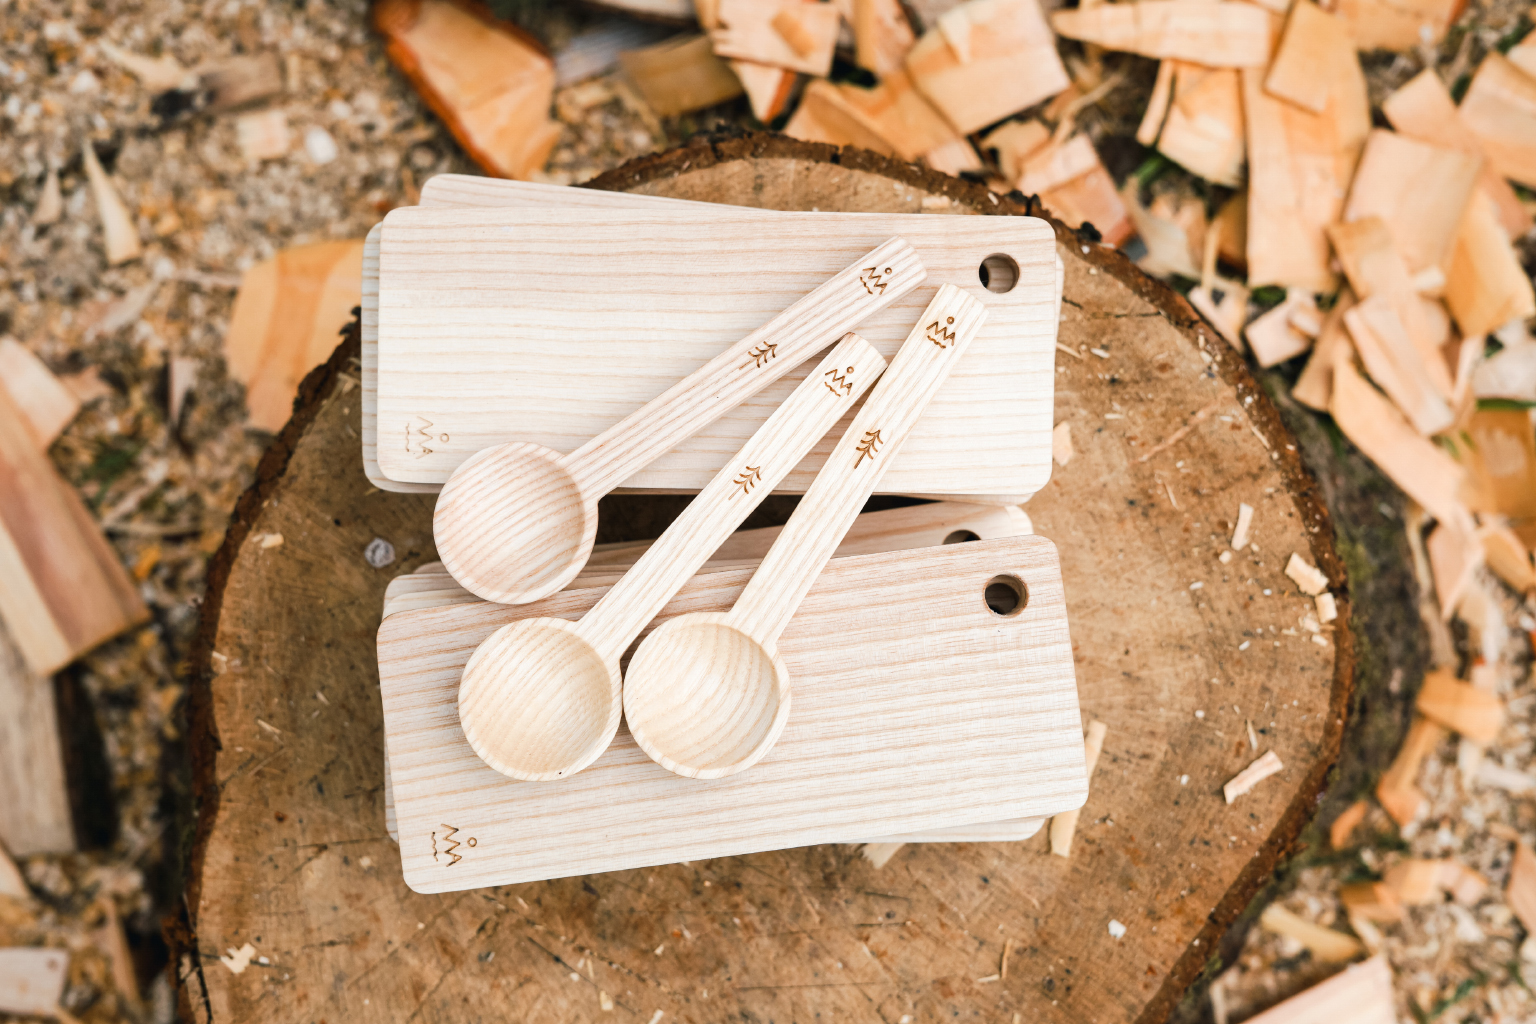
[[[556,52],[601,17],[530,0],[502,5],[502,12]],[[189,824],[183,660],[206,560],[270,439],[246,425],[243,388],[221,355],[240,272],[287,246],[361,238],[389,209],[413,203],[425,178],[475,172],[390,69],[366,15],[364,0],[0,0],[0,336],[20,339],[55,373],[100,375],[103,396],[51,454],[152,609],[149,625],[101,646],[58,680],[71,723],[77,827],[88,852],[28,858],[23,869],[41,900],[32,907],[0,900],[0,946],[43,938],[77,950],[65,1006],[84,1021],[167,1021],[174,1013],[160,918],[180,898]],[[1441,46],[1369,55],[1372,97],[1379,101],[1427,63],[1447,81],[1464,81],[1488,49],[1528,28],[1522,3],[1475,2]],[[100,40],[170,54],[183,66],[227,54],[278,54],[286,91],[263,106],[287,115],[292,150],[252,163],[241,155],[235,115],[163,117],[151,92],[101,52]],[[1117,180],[1140,173],[1152,190],[1192,192],[1212,204],[1226,198],[1130,138],[1152,61],[1111,55],[1106,74],[1123,74],[1120,84],[1080,123]],[[561,89],[556,115],[562,137],[545,177],[567,184],[699,130],[753,123],[745,100],[664,121],[617,75]],[[80,154],[88,143],[146,239],[144,255],[118,267],[106,266],[84,184]],[[49,167],[60,173],[65,215],[37,227],[31,215]],[[172,359],[197,365],[177,422],[167,408]],[[1284,375],[1276,381],[1283,390]],[[1387,528],[1401,530],[1401,522]],[[1536,757],[1527,639],[1536,619],[1496,582],[1484,583],[1498,593],[1511,666],[1511,725],[1490,757],[1524,772]],[[1461,657],[1471,654],[1464,634],[1445,642],[1459,643]],[[1407,694],[1396,697],[1395,706],[1405,706]],[[1369,777],[1389,755],[1378,749],[1364,769],[1344,775]],[[1428,820],[1398,834],[1384,817],[1372,817],[1361,831],[1370,841],[1344,854],[1306,854],[1278,880],[1273,897],[1303,917],[1342,927],[1338,883],[1375,877],[1409,854],[1455,854],[1502,889],[1510,835],[1536,838],[1530,798],[1499,788],[1468,791],[1452,742],[1421,785],[1433,803]],[[127,929],[141,1004],[117,990],[106,958],[91,944],[103,898]],[[1536,950],[1525,946],[1531,960],[1522,956],[1522,938],[1496,892],[1471,909],[1413,909],[1385,938],[1404,1019],[1536,1019],[1536,998],[1521,973],[1522,964],[1536,969]],[[1332,969],[1252,929],[1213,966],[1212,975],[1221,976],[1215,1006],[1201,996],[1186,1016],[1236,1021]]]

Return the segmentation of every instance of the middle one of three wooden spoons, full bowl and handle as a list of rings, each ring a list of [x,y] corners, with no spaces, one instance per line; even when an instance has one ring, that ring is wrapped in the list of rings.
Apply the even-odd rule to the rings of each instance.
[[[882,370],[869,342],[843,338],[579,622],[524,619],[490,634],[459,680],[475,752],[527,781],[591,765],[619,729],[619,656]]]

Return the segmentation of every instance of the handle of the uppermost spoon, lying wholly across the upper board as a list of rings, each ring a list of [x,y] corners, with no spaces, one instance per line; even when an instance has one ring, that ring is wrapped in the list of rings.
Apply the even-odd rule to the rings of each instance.
[[[915,289],[928,270],[891,238],[662,395],[565,456],[584,494],[601,496],[736,408],[876,310]]]

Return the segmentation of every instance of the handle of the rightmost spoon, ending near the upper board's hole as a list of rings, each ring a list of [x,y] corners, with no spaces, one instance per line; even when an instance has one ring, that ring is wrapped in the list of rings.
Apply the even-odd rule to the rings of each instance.
[[[742,591],[731,609],[739,629],[774,649],[928,401],[985,321],[982,302],[952,284],[938,289]]]

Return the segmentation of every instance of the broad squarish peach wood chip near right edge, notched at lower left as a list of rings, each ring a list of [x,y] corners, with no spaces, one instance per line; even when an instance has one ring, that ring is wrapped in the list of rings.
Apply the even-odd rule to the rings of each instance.
[[[1344,220],[1379,216],[1410,275],[1439,267],[1450,255],[1481,170],[1478,154],[1373,130],[1355,170]]]

